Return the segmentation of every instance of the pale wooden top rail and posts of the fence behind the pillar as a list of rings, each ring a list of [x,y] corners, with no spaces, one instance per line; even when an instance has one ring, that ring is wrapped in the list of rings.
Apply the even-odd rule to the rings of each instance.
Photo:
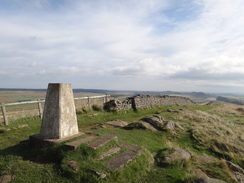
[[[74,98],[74,100],[87,100],[87,106],[90,109],[91,108],[91,99],[103,99],[103,103],[107,102],[109,100],[110,95],[100,95],[100,96],[87,96],[87,97],[79,97],[79,98]],[[7,110],[6,106],[15,106],[15,105],[23,105],[23,104],[37,104],[38,106],[38,116],[42,118],[42,113],[43,113],[43,107],[42,103],[45,103],[45,100],[34,100],[34,101],[26,101],[26,102],[15,102],[15,103],[2,103],[1,108],[2,108],[2,117],[3,117],[3,124],[8,125],[8,115],[7,115]]]

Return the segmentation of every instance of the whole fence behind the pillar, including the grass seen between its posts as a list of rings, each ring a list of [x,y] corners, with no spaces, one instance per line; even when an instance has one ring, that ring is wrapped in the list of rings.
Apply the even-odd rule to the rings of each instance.
[[[110,95],[87,96],[74,98],[76,110],[93,105],[102,107],[109,100]],[[35,100],[15,103],[2,103],[0,112],[0,124],[8,125],[12,120],[24,117],[42,117],[45,100]]]

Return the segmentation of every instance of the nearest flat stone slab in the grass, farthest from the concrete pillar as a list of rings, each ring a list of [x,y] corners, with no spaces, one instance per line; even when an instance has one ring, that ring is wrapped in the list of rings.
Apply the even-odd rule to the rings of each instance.
[[[120,168],[123,168],[127,163],[129,163],[137,156],[138,154],[136,152],[131,150],[126,150],[123,153],[119,154],[118,156],[115,156],[111,160],[105,162],[104,165],[110,170],[115,171]]]

